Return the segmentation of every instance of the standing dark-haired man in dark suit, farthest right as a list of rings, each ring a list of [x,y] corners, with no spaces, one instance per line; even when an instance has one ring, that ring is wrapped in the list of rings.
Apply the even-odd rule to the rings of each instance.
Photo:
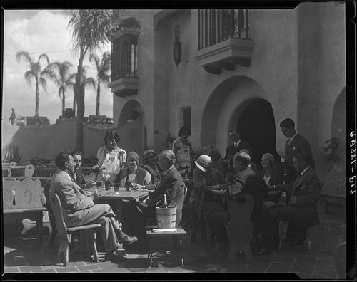
[[[311,167],[315,169],[315,163],[313,161],[313,155],[311,152],[310,143],[305,137],[300,135],[295,130],[295,122],[290,118],[286,118],[280,122],[281,132],[288,138],[285,142],[285,169],[284,169],[284,180],[285,184],[293,183],[296,179],[296,170],[293,168],[293,155],[297,153],[303,153],[308,155],[311,160]]]

